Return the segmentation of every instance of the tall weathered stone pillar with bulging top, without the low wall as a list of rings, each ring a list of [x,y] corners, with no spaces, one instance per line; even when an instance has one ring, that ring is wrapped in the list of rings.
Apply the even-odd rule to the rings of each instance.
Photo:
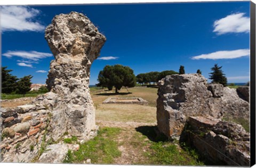
[[[69,132],[87,139],[97,128],[89,91],[90,67],[106,37],[85,15],[71,12],[55,16],[45,38],[55,57],[46,80],[51,92],[44,97],[49,101],[41,103],[52,109],[52,138]]]

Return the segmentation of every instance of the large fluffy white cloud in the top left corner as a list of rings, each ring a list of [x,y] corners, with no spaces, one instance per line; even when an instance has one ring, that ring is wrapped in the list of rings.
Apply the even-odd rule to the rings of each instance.
[[[0,6],[2,31],[43,31],[45,27],[33,21],[40,11],[27,6]]]

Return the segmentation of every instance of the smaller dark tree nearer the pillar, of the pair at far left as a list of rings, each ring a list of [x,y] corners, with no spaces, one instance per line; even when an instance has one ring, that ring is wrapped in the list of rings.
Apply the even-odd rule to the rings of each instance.
[[[28,75],[28,76],[24,76],[22,78],[19,79],[19,81],[17,82],[17,86],[18,86],[18,92],[20,94],[23,94],[23,97],[25,97],[25,94],[30,91],[30,86],[31,86],[31,78],[33,76]]]

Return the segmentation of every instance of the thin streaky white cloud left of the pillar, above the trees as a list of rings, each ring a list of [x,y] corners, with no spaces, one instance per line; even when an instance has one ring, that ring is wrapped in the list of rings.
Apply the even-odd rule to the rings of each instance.
[[[33,61],[38,61],[39,59],[46,58],[46,57],[52,57],[51,53],[37,52],[37,51],[7,51],[3,55],[8,58],[21,57],[23,59],[28,59]]]

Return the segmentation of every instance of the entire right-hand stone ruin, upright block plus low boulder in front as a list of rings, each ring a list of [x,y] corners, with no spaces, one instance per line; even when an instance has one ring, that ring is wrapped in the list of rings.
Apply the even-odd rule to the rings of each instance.
[[[223,116],[249,121],[248,95],[246,87],[207,84],[199,74],[166,76],[159,81],[158,130],[169,139],[187,141],[214,164],[249,166],[250,133],[221,121]]]

